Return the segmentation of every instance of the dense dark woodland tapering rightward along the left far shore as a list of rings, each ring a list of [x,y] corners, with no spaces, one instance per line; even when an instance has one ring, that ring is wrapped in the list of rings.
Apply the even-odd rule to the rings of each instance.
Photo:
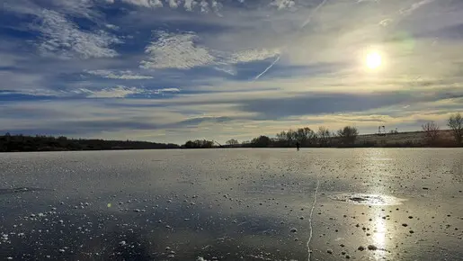
[[[147,141],[68,139],[66,137],[24,136],[6,133],[0,136],[0,152],[62,151],[62,150],[110,150],[110,149],[160,149],[180,148],[176,144]]]

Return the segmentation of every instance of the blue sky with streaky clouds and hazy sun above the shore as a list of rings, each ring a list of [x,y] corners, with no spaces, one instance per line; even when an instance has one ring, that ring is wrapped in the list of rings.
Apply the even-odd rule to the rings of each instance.
[[[3,0],[0,132],[183,144],[445,128],[461,0]]]

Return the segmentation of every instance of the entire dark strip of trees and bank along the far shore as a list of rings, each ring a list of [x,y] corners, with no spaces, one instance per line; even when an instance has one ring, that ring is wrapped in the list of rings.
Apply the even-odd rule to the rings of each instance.
[[[441,130],[433,122],[422,125],[423,131],[370,134],[359,136],[356,127],[345,126],[331,131],[326,127],[312,130],[309,127],[285,130],[270,138],[261,135],[240,143],[229,139],[225,146],[214,140],[189,140],[182,146],[147,141],[67,139],[66,137],[23,136],[6,133],[0,136],[0,152],[15,151],[60,151],[60,150],[109,150],[109,149],[161,149],[161,148],[290,148],[298,143],[302,148],[371,148],[371,147],[460,147],[463,141],[463,117],[460,113],[450,116],[447,121],[450,130]],[[406,139],[397,137],[406,136]],[[361,137],[361,139],[359,139]],[[416,140],[419,137],[419,140]],[[368,139],[367,139],[368,138]],[[216,145],[217,144],[217,145]]]

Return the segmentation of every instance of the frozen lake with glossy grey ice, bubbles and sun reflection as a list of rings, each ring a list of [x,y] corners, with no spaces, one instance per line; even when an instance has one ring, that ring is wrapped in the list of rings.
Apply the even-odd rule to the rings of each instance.
[[[463,260],[463,149],[0,154],[0,259]]]

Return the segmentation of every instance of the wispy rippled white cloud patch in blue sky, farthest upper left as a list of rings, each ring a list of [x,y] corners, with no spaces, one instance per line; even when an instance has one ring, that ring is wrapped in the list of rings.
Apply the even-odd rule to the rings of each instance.
[[[76,23],[51,10],[43,10],[40,18],[40,25],[33,29],[41,33],[39,49],[43,55],[59,58],[111,58],[118,55],[111,45],[121,43],[121,40],[106,31],[81,31]]]

